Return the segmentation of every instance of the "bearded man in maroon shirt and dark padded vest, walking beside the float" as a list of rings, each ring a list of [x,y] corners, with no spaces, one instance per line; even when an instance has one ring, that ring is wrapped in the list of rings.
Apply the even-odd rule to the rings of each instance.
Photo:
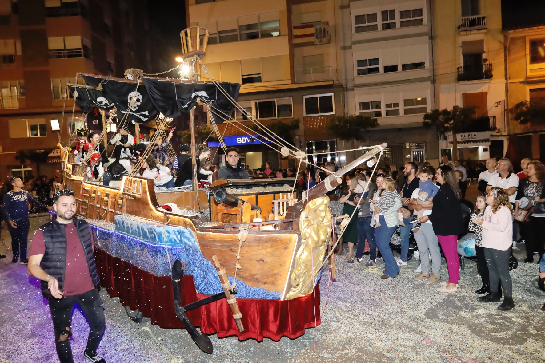
[[[76,303],[90,327],[83,356],[95,363],[106,363],[96,354],[106,319],[97,290],[100,280],[93,255],[93,233],[86,221],[74,218],[76,199],[71,190],[59,190],[53,208],[57,215],[32,238],[28,273],[41,280],[41,292],[49,300],[60,362],[74,362],[69,338]]]

